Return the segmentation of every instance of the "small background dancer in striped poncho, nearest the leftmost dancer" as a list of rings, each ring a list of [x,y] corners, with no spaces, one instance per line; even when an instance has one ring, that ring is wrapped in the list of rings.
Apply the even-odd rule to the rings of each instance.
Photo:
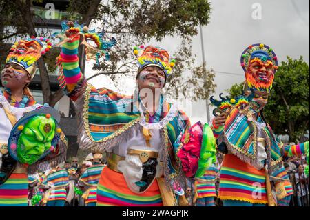
[[[65,206],[69,186],[69,174],[63,168],[62,164],[50,170],[42,185],[48,188],[43,198],[43,203],[46,206]]]

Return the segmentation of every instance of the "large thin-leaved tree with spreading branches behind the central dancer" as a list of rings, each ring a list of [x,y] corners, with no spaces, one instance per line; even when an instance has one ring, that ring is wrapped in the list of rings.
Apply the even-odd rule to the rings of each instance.
[[[1,43],[16,36],[39,34],[33,22],[33,18],[37,15],[30,10],[32,3],[39,0],[2,1],[0,10],[5,14],[5,19],[0,22]],[[209,1],[70,0],[67,10],[70,14],[67,17],[68,20],[79,21],[85,26],[99,26],[107,34],[116,34],[118,46],[110,50],[110,61],[101,60],[100,66],[94,66],[94,70],[98,71],[94,77],[106,74],[117,86],[118,77],[136,74],[137,68],[132,55],[133,46],[145,44],[150,39],[160,41],[167,36],[178,36],[183,40],[172,56],[176,58],[177,63],[174,68],[174,77],[171,77],[167,82],[167,88],[172,91],[170,95],[174,98],[192,97],[196,100],[206,99],[211,92],[214,92],[216,86],[213,80],[214,73],[207,71],[205,64],[194,66],[191,40],[191,37],[198,32],[197,26],[205,26],[209,23],[211,11]],[[17,19],[11,22],[12,18]],[[6,30],[6,26],[13,28]],[[47,35],[50,33],[45,30],[43,34],[48,37]],[[85,53],[83,48],[80,48],[79,52],[80,66],[83,71]],[[57,52],[54,52],[54,56],[56,54]],[[45,63],[48,63],[48,68],[53,70],[55,67],[52,63],[56,58],[54,56],[45,56],[39,61],[43,98],[51,106],[54,106],[63,95],[61,90],[52,94],[49,87],[48,70]],[[190,74],[185,74],[188,72]]]

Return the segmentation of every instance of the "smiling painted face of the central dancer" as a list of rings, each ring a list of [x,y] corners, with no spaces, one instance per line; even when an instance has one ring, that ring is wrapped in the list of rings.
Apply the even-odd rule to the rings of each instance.
[[[156,66],[147,66],[138,76],[139,88],[163,88],[165,86],[165,73]]]

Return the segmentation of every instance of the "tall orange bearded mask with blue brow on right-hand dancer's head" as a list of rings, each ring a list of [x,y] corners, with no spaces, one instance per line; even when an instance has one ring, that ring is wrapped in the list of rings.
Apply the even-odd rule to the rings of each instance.
[[[241,66],[245,70],[247,90],[270,92],[278,69],[278,59],[269,46],[253,44],[247,47],[242,52]]]

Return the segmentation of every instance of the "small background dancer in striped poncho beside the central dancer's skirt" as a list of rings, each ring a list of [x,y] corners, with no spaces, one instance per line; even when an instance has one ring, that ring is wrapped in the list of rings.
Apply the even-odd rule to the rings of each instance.
[[[96,152],[93,158],[93,165],[90,168],[87,168],[85,172],[83,172],[78,182],[79,187],[85,189],[82,198],[85,200],[86,206],[96,206],[97,185],[99,182],[101,171],[105,167],[101,163],[103,155],[100,152]]]

